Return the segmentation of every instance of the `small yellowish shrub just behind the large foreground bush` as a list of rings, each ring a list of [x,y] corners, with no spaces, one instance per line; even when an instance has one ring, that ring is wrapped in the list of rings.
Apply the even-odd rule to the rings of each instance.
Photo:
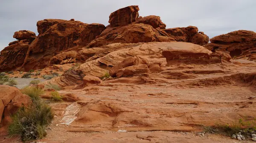
[[[29,95],[32,100],[39,100],[41,94],[44,94],[44,90],[37,87],[25,87],[20,90],[21,93]]]

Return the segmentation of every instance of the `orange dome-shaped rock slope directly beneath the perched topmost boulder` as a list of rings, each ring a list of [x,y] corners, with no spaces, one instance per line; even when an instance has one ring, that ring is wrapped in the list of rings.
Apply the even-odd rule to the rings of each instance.
[[[164,35],[147,24],[130,24],[120,27],[108,27],[88,47],[99,47],[112,43],[138,43],[138,42],[171,42],[174,36]]]

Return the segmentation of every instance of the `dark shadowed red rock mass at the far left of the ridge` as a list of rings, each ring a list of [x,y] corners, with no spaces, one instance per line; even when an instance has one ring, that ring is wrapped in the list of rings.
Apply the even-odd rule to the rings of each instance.
[[[105,26],[79,21],[41,20],[37,23],[39,35],[31,39],[31,31],[15,32],[14,37],[24,39],[11,42],[1,52],[0,70],[28,71],[48,66],[58,52],[76,46],[85,46],[99,35]],[[35,33],[32,34],[33,37]],[[18,61],[18,62],[17,62]],[[21,64],[22,63],[22,64]]]

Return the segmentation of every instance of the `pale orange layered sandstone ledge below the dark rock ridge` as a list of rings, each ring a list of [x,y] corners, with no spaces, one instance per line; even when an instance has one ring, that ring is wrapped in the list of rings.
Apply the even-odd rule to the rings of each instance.
[[[161,65],[163,60],[167,60],[168,64],[180,61],[189,61],[189,64],[207,64],[209,55],[212,53],[200,45],[187,42],[149,42],[129,45],[112,44],[115,50],[106,55],[98,55],[97,58],[81,64],[74,70],[65,73],[64,76],[53,79],[52,82],[60,86],[82,84],[84,76],[92,75],[101,78],[108,71],[113,77],[149,73],[148,65],[150,63]],[[220,62],[219,57],[220,55],[217,57],[218,62]],[[157,59],[161,60],[157,62]],[[156,70],[151,67],[152,72],[161,71],[157,67],[154,68]]]

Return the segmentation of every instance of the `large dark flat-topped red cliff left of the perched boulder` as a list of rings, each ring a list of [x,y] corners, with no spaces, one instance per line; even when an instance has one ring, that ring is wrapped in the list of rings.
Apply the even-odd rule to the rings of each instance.
[[[24,70],[49,65],[56,53],[78,45],[85,46],[105,29],[102,24],[67,20],[42,20],[37,25],[39,35],[29,46],[23,63]]]

